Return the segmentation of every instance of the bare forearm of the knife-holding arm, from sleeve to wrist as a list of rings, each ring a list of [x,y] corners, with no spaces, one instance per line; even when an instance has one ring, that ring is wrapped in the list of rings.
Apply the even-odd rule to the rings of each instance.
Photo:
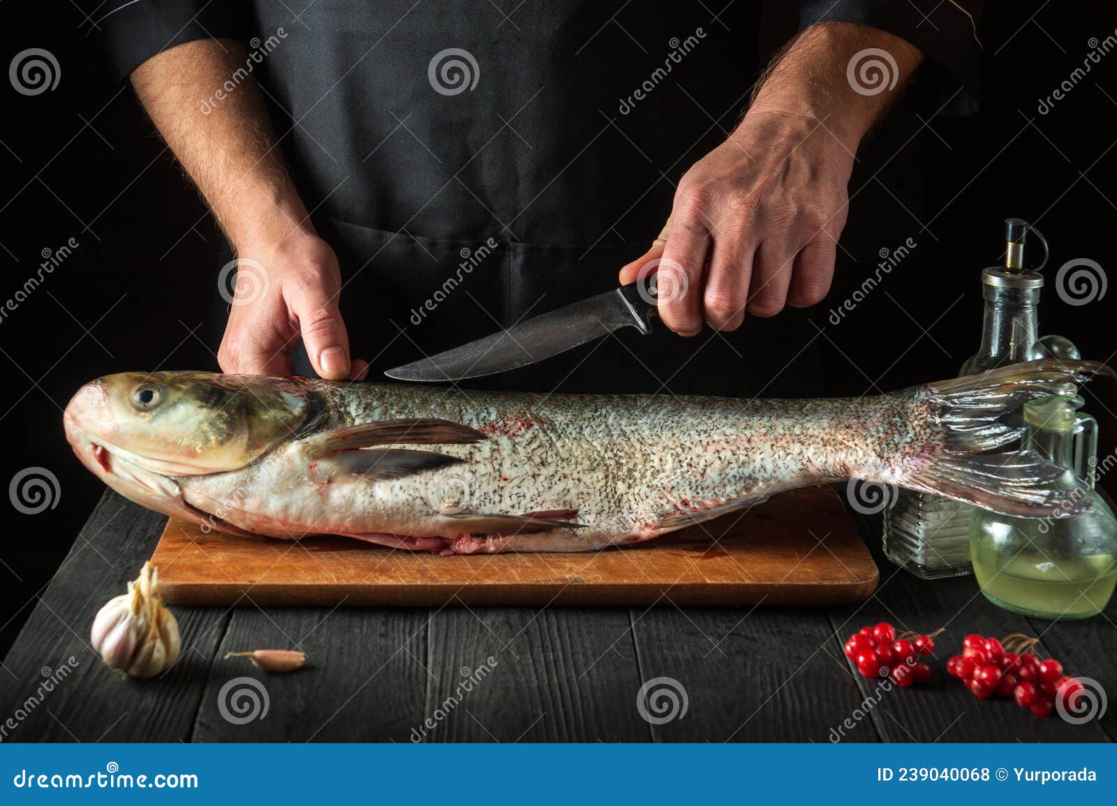
[[[880,55],[852,61],[870,48],[890,56],[895,68]],[[917,48],[887,31],[848,22],[812,26],[770,68],[754,94],[750,114],[813,118],[852,152],[903,92],[922,59]],[[875,66],[865,67],[873,60],[879,63],[879,71]],[[852,76],[848,75],[851,61]]]

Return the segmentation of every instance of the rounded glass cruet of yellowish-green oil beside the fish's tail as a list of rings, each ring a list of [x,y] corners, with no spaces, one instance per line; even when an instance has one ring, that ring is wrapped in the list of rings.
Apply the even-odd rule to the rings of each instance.
[[[1097,422],[1082,399],[1052,395],[1023,406],[1021,447],[1066,468],[1056,484],[1090,508],[1070,517],[1016,518],[974,508],[970,551],[987,599],[1052,620],[1087,618],[1105,608],[1117,584],[1117,518],[1094,489]],[[1069,509],[1069,507],[1068,507]]]

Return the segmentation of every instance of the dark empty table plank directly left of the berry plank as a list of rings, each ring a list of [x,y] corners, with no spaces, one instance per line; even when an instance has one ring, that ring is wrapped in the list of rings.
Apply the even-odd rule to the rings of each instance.
[[[824,612],[655,607],[633,622],[646,710],[666,720],[651,726],[656,741],[824,742],[860,701]],[[672,691],[679,703],[686,692],[685,716]],[[878,740],[870,722],[857,732]]]

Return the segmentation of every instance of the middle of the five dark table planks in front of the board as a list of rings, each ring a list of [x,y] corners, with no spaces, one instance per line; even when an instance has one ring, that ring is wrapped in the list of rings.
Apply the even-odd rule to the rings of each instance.
[[[626,610],[447,607],[430,671],[424,741],[649,740]]]

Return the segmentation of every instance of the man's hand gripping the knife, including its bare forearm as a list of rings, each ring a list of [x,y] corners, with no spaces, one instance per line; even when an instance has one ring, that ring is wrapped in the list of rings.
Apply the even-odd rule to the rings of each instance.
[[[847,66],[888,51],[896,88],[858,93]],[[659,313],[681,336],[733,330],[745,313],[820,301],[830,289],[847,186],[861,137],[919,63],[884,31],[848,23],[808,29],[777,60],[728,140],[679,181],[666,247],[621,269],[621,284],[659,259]],[[886,78],[889,80],[890,76]]]

